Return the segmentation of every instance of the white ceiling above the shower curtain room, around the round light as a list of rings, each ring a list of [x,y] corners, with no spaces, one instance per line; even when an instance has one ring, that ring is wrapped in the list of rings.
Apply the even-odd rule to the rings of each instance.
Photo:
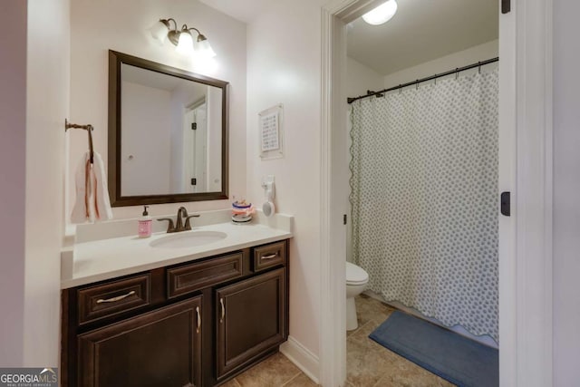
[[[497,0],[397,0],[382,25],[347,26],[347,53],[387,75],[498,39]]]

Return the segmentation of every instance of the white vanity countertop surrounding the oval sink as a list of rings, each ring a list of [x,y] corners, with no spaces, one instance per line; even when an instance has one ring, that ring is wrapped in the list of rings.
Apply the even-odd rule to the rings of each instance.
[[[72,247],[63,248],[61,288],[87,285],[105,279],[127,276],[292,237],[292,217],[284,215],[282,217],[286,217],[286,219],[282,222],[272,222],[269,219],[264,219],[260,214],[257,217],[259,220],[256,219],[249,224],[216,223],[193,227],[191,231],[179,233],[186,234],[207,230],[221,231],[227,234],[224,239],[197,247],[150,247],[150,243],[154,240],[168,235],[178,235],[178,233],[166,234],[165,232],[155,233],[148,238],[134,235],[75,243]],[[275,228],[268,226],[267,223],[273,223],[274,226],[283,224],[288,225],[288,227]],[[67,261],[68,263],[66,263]],[[65,266],[70,267],[65,269]]]

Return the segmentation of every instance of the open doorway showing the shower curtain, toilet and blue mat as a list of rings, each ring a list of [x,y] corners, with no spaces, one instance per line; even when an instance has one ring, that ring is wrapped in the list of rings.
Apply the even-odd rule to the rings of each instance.
[[[368,274],[353,297],[360,326],[347,326],[347,382],[397,383],[386,370],[401,369],[411,383],[444,383],[389,351],[392,334],[382,345],[368,337],[404,315],[418,323],[408,338],[415,357],[460,351],[439,356],[414,343],[428,321],[445,328],[432,339],[478,348],[478,369],[488,364],[472,377],[497,383],[498,4],[389,0],[377,9],[385,6],[396,13],[382,24],[367,22],[373,10],[346,26],[347,256],[356,265],[347,268]],[[347,322],[353,316],[347,309]],[[432,362],[449,380],[469,375]]]

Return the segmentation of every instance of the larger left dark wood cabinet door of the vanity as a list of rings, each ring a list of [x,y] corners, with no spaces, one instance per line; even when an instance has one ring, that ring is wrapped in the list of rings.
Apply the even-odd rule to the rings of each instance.
[[[201,386],[201,296],[78,335],[80,386]]]

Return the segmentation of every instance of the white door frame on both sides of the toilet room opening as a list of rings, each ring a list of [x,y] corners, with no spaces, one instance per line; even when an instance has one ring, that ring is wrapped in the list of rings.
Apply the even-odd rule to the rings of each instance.
[[[346,256],[341,185],[346,138],[344,25],[383,0],[332,0],[322,8],[320,381],[346,376]],[[512,0],[499,15],[499,189],[511,217],[499,217],[500,385],[551,386],[552,360],[552,9],[553,0]]]

